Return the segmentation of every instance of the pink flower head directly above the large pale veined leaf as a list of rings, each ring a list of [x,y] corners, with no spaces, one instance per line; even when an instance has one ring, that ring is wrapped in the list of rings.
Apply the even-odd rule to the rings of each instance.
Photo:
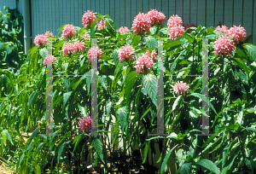
[[[145,53],[144,55],[137,58],[136,65],[134,67],[137,67],[137,73],[141,73],[143,71],[144,74],[145,70],[147,70],[148,73],[153,65],[154,62],[149,56],[149,53]]]

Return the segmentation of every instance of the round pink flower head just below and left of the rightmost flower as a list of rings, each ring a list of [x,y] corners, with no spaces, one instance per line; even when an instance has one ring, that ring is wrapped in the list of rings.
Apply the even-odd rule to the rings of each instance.
[[[234,48],[233,40],[224,36],[219,37],[214,42],[214,51],[216,55],[231,54]]]

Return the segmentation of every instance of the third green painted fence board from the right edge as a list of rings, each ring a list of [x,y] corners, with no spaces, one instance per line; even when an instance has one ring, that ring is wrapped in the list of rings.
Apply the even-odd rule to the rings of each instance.
[[[232,26],[233,23],[233,0],[224,1],[224,25]]]

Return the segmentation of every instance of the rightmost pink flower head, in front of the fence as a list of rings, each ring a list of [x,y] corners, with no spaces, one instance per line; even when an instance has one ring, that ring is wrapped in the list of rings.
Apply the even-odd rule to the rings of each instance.
[[[232,37],[234,39],[234,41],[236,41],[237,44],[239,44],[240,42],[244,42],[244,38],[247,37],[247,32],[244,29],[244,27],[240,26],[233,26],[230,27],[230,37]]]

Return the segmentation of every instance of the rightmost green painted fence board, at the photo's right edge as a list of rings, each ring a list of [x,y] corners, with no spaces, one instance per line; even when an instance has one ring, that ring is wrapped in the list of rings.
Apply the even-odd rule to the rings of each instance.
[[[255,2],[254,2],[255,3]],[[242,26],[247,31],[247,37],[252,34],[253,31],[253,0],[247,0],[246,3],[243,3],[243,19],[242,19]],[[253,21],[253,22],[252,22]]]

